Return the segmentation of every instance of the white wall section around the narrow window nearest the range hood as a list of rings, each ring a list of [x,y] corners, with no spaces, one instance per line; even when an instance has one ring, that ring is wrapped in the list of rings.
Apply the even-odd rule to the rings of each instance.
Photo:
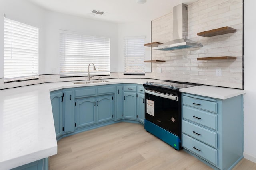
[[[124,71],[124,37],[145,36],[145,44],[151,42],[151,21],[137,23],[122,23],[118,26],[119,31],[119,65],[118,70]],[[151,59],[151,48],[145,47],[145,60]],[[145,63],[145,72],[151,72],[151,63]]]

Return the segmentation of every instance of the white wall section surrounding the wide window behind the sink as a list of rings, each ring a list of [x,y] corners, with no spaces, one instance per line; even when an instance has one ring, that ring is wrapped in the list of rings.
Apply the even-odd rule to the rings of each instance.
[[[118,24],[46,12],[46,53],[44,74],[59,74],[59,30],[110,38],[110,72],[118,72]]]

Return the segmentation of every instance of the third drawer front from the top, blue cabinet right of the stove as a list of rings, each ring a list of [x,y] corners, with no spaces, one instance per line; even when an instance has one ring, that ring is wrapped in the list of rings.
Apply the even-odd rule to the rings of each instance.
[[[182,120],[182,133],[217,149],[217,133]]]

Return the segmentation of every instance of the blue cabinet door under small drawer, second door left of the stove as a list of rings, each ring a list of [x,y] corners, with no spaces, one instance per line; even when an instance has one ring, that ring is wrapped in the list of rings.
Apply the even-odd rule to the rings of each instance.
[[[137,119],[136,92],[124,92],[124,119]]]

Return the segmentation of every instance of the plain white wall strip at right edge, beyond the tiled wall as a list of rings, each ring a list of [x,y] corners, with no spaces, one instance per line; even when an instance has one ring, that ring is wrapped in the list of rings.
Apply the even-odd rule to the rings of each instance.
[[[244,2],[244,158],[256,162],[256,1]]]

